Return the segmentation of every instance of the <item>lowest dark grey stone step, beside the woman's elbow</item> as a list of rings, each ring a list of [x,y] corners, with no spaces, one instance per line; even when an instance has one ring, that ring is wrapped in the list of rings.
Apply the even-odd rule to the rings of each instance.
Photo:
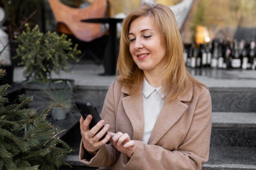
[[[211,147],[209,161],[202,170],[256,170],[256,148],[247,147]],[[79,161],[78,155],[68,155],[65,161],[72,170],[94,170]],[[64,169],[66,168],[66,169]],[[67,170],[63,167],[61,170]]]

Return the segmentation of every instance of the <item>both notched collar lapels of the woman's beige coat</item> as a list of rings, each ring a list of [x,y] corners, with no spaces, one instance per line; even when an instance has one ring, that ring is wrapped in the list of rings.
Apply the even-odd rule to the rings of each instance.
[[[130,95],[127,87],[123,86],[122,93],[127,94],[127,97],[122,99],[126,115],[130,119],[133,130],[133,140],[143,139],[144,132],[144,111],[143,111],[143,96],[142,86],[139,89],[140,93]],[[157,117],[155,126],[151,133],[148,144],[155,145],[168,132],[168,130],[180,119],[188,106],[183,102],[189,102],[192,99],[192,88],[189,88],[183,95],[171,102],[164,102],[162,110]]]

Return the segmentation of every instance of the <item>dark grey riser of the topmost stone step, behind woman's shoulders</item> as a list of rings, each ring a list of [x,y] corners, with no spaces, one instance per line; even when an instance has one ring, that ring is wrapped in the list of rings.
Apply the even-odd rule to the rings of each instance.
[[[101,112],[108,86],[76,86],[75,99],[89,101]],[[209,87],[214,112],[256,112],[256,87]]]

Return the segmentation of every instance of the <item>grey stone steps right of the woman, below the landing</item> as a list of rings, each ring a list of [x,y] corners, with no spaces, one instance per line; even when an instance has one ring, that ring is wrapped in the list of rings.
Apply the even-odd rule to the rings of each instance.
[[[256,170],[256,87],[209,90],[211,147],[202,170]]]

